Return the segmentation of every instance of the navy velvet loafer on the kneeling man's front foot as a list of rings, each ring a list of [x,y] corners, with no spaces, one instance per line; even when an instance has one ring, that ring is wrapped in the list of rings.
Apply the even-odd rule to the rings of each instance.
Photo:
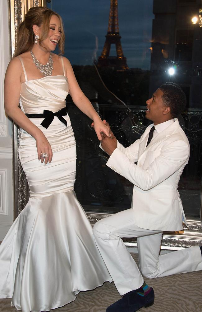
[[[154,303],[154,290],[152,287],[148,295],[140,296],[135,290],[130,291],[122,299],[110,305],[106,312],[135,312],[142,307],[149,307]]]

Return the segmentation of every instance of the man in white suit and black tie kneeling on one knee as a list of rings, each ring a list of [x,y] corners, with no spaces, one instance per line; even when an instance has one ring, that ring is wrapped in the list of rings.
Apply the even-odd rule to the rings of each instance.
[[[131,209],[97,222],[94,237],[122,299],[106,312],[135,312],[154,303],[154,290],[140,274],[121,237],[137,237],[140,270],[148,278],[202,269],[199,246],[159,256],[163,231],[182,230],[186,222],[177,191],[188,163],[190,146],[178,119],[186,97],[174,83],[165,83],[146,101],[153,121],[140,139],[124,148],[103,134],[107,166],[134,184]],[[135,164],[137,162],[137,164]]]

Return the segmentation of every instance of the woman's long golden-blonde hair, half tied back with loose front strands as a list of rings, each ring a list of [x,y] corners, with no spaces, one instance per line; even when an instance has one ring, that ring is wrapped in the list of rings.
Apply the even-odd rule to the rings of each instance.
[[[47,7],[31,7],[25,15],[24,21],[19,25],[17,32],[17,44],[13,57],[18,56],[26,51],[30,51],[34,45],[33,25],[42,26],[42,35],[39,38],[39,45],[48,36],[49,23],[52,15],[56,15],[61,23],[61,38],[58,41],[59,55],[64,53],[65,34],[60,15]]]

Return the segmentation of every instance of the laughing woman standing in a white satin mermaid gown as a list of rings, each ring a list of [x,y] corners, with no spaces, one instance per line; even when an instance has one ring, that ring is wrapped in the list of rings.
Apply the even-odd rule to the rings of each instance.
[[[109,133],[70,62],[51,52],[57,44],[63,53],[61,17],[31,8],[5,76],[5,111],[21,128],[19,156],[30,199],[0,246],[0,298],[12,297],[11,305],[23,312],[49,311],[111,280],[73,190],[76,144],[67,94],[93,119],[98,139]]]

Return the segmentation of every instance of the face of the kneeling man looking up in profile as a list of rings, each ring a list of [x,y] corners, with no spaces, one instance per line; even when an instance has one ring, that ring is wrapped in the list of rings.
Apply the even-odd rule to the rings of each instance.
[[[160,89],[157,89],[151,99],[146,101],[147,110],[145,117],[152,120],[154,125],[172,119],[170,107],[164,105],[162,95],[163,92]]]

